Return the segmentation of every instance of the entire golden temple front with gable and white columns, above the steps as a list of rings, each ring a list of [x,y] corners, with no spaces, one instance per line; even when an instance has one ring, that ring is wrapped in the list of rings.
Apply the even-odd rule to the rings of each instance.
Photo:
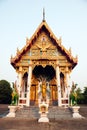
[[[40,99],[49,99],[53,106],[69,105],[69,80],[77,57],[66,50],[45,20],[10,62],[18,75],[19,105],[38,105]]]

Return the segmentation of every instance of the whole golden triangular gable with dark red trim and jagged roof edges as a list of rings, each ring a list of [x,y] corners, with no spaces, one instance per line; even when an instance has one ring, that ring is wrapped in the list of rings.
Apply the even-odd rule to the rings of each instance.
[[[61,66],[63,63],[69,63],[72,68],[77,64],[77,58],[61,44],[61,39],[57,39],[46,21],[42,21],[33,36],[26,40],[26,45],[17,51],[17,55],[11,57],[11,64],[14,68],[19,64],[28,66],[30,60],[59,60]]]

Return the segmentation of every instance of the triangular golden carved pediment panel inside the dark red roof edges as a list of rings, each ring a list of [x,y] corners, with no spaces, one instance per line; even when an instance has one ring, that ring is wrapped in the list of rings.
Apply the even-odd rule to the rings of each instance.
[[[31,56],[58,56],[58,50],[51,39],[42,32],[29,52]]]

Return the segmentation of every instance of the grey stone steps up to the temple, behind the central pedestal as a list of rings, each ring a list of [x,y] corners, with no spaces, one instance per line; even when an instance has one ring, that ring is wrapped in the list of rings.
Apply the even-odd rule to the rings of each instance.
[[[71,119],[72,113],[68,108],[50,106],[48,118],[50,120]],[[16,118],[39,119],[39,108],[37,106],[23,107],[16,112]]]

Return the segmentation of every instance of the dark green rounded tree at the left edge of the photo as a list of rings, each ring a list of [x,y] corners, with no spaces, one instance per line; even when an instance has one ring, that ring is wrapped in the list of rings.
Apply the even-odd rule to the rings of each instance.
[[[10,104],[12,88],[6,80],[0,80],[0,104]]]

